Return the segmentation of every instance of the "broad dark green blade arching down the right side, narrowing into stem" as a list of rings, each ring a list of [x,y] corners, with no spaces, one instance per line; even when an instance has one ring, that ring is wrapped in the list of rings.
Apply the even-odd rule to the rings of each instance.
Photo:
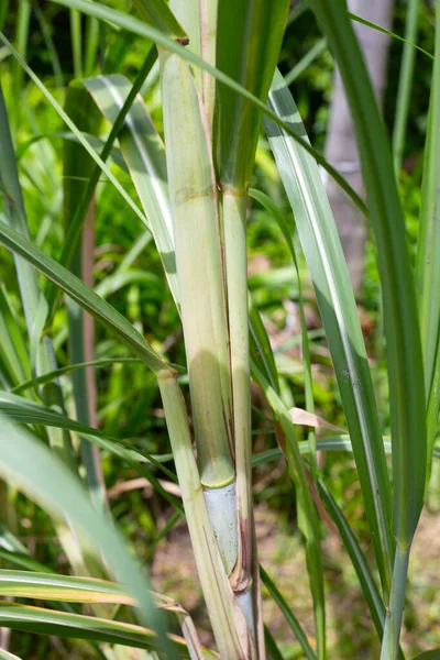
[[[358,41],[342,0],[311,0],[341,70],[352,109],[376,238],[383,286],[394,479],[394,530],[410,544],[424,502],[426,472],[425,387],[415,289],[405,223],[383,122]],[[400,305],[405,300],[405,305]]]

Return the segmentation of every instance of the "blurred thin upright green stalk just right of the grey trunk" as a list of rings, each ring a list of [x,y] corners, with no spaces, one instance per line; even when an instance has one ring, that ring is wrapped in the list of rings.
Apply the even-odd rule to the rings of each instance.
[[[402,167],[402,158],[405,148],[406,127],[408,122],[409,100],[411,95],[411,82],[414,73],[414,63],[416,59],[416,48],[413,43],[417,40],[417,16],[419,10],[419,0],[408,0],[408,9],[405,23],[405,43],[399,81],[397,88],[397,107],[393,130],[393,155],[396,176]]]

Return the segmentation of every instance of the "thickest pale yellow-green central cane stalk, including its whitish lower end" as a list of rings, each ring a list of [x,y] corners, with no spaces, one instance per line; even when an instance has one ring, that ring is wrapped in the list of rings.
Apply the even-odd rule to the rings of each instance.
[[[232,404],[217,188],[188,65],[160,51],[178,289],[201,483],[227,574],[237,560]],[[179,108],[179,112],[176,112]],[[224,534],[224,526],[231,534]]]

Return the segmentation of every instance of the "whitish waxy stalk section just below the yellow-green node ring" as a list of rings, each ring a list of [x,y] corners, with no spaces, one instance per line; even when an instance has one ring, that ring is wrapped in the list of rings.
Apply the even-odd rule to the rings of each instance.
[[[204,488],[204,495],[224,571],[229,575],[238,552],[235,482],[222,488]]]

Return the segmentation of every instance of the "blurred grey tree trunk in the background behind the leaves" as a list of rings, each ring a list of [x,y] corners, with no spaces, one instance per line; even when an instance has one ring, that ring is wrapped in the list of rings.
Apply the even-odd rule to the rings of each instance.
[[[349,11],[391,29],[394,0],[348,0]],[[386,64],[389,38],[361,23],[353,23],[380,105],[386,86]],[[327,132],[326,158],[344,176],[348,183],[364,195],[361,166],[350,108],[341,76],[337,69]],[[327,194],[333,210],[342,249],[355,293],[362,287],[365,272],[365,218],[353,206],[341,188],[330,177],[326,180]]]

